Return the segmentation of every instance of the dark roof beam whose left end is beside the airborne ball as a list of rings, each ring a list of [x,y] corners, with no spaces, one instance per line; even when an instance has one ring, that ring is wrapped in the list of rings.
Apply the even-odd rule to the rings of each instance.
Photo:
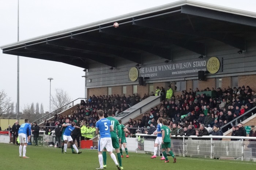
[[[147,24],[151,24],[148,20],[146,20],[144,22],[147,22]],[[195,53],[198,53],[201,55],[206,55],[206,49],[205,49],[205,46],[203,43],[182,41],[182,40],[172,39],[171,37],[166,37],[166,36],[161,36],[161,35],[155,36],[152,34],[146,34],[146,33],[141,34],[141,33],[134,33],[131,31],[123,31],[120,29],[114,30],[114,29],[113,28],[104,28],[104,29],[99,29],[99,32],[102,32],[105,34],[125,36],[125,37],[134,38],[134,39],[142,39],[142,40],[147,40],[147,41],[151,41],[151,42],[166,43],[167,45],[174,44],[176,46],[182,47],[184,49],[188,49]]]

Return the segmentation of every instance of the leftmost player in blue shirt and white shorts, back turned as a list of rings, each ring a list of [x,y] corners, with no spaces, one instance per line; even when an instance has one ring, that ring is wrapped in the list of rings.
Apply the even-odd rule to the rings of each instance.
[[[27,141],[30,139],[31,136],[31,125],[29,123],[29,119],[25,119],[25,123],[20,125],[19,131],[19,141],[20,141],[20,146],[19,146],[19,157],[21,158],[22,154],[22,147],[23,147],[23,158],[29,158],[26,157],[26,148],[27,148]]]

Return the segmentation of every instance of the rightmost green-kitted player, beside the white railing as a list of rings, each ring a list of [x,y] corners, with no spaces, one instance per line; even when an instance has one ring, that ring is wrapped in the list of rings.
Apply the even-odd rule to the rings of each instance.
[[[161,127],[161,132],[162,132],[162,154],[165,157],[165,163],[169,162],[165,149],[167,149],[167,152],[173,157],[173,163],[176,163],[176,158],[174,157],[173,152],[171,151],[171,139],[170,139],[170,129],[167,127],[167,120],[163,119],[162,120],[162,127]]]

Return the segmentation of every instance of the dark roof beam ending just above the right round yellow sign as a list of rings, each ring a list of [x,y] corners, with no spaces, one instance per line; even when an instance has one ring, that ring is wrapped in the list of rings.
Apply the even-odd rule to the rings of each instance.
[[[166,25],[162,26],[161,22],[154,22],[150,23],[148,21],[134,21],[133,25],[140,26],[140,27],[147,27],[147,28],[153,28],[153,29],[158,29],[158,30],[164,30],[164,31],[169,31],[169,32],[176,32],[180,34],[185,34],[185,35],[193,35],[193,36],[198,36],[198,37],[206,37],[206,38],[212,38],[215,40],[218,40],[220,42],[223,42],[227,45],[236,47],[237,49],[245,50],[245,39],[233,35],[228,35],[226,33],[207,33],[207,32],[194,32],[190,31],[188,29],[177,29],[173,28],[171,25]]]

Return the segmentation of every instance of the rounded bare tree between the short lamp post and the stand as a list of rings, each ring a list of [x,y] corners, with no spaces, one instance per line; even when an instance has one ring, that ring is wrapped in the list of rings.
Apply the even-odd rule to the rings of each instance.
[[[71,102],[71,98],[69,97],[69,94],[63,89],[55,89],[55,93],[56,93],[55,96],[52,96],[51,98],[51,103],[52,103],[51,109],[52,110],[58,109],[58,112],[62,112],[68,108],[68,105],[67,106],[65,105]]]

